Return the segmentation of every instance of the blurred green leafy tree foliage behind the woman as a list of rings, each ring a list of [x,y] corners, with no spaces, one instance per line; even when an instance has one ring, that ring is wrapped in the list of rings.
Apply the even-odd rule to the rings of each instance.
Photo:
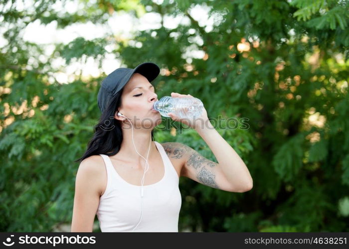
[[[70,225],[78,168],[73,161],[98,122],[96,99],[105,74],[83,77],[77,70],[69,84],[55,75],[89,57],[101,66],[108,54],[130,68],[157,63],[163,69],[155,81],[159,97],[190,94],[202,100],[209,118],[249,119],[247,130],[226,129],[224,121],[217,130],[245,161],[253,189],[230,193],[180,179],[180,231],[349,231],[348,0],[79,2],[76,12],[48,0],[25,9],[15,0],[0,3],[7,41],[0,47],[1,232]],[[209,9],[212,28],[191,15],[195,5]],[[55,22],[58,29],[89,21],[108,25],[112,15],[125,12],[133,18],[157,13],[161,25],[131,32],[131,38],[108,32],[67,44],[22,38],[35,21]],[[186,22],[168,28],[168,16]],[[204,56],[187,53],[193,50]],[[63,61],[58,66],[57,58]],[[185,143],[216,161],[194,130],[161,127],[157,141]],[[97,219],[94,228],[100,231]]]

